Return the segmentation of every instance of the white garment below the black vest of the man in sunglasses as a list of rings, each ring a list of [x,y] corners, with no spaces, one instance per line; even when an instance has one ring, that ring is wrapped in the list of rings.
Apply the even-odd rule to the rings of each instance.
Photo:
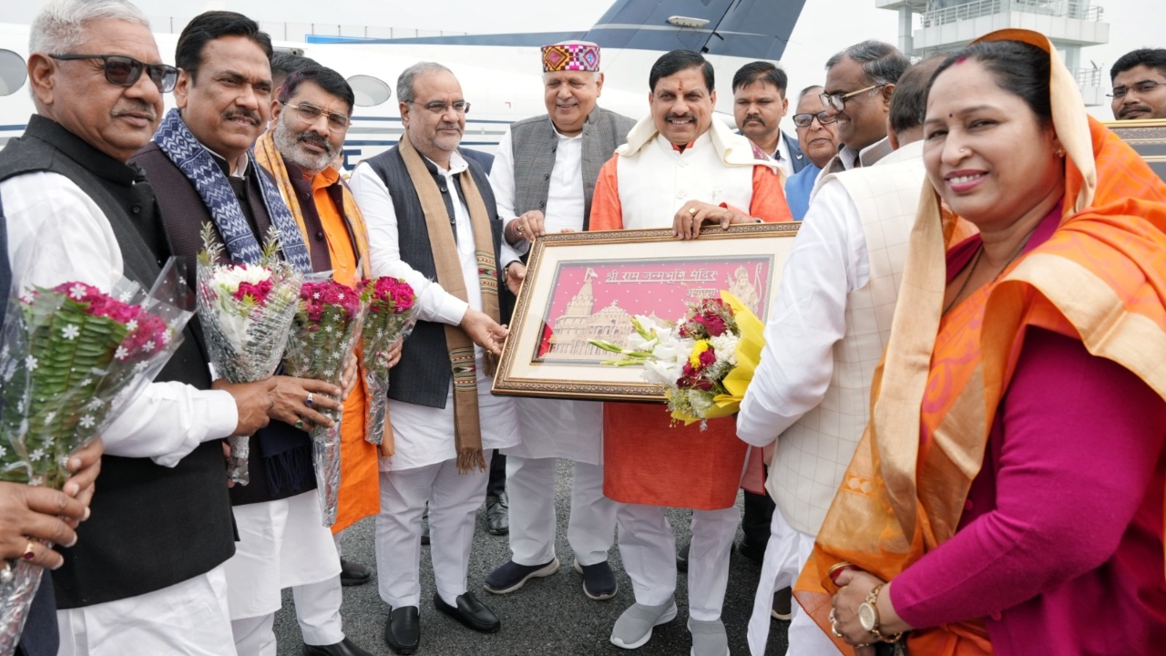
[[[58,656],[234,656],[226,574],[219,565],[159,591],[57,610]]]

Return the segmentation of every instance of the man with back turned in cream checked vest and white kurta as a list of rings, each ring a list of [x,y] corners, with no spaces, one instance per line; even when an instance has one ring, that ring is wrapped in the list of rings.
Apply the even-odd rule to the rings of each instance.
[[[774,294],[761,362],[737,414],[738,438],[773,449],[766,489],[777,508],[749,624],[753,656],[766,654],[773,591],[793,585],[809,558],[869,419],[871,371],[891,334],[927,184],[927,84],[942,61],[925,60],[897,78],[884,128],[891,154],[823,173]],[[838,656],[800,606],[791,610],[788,654]]]

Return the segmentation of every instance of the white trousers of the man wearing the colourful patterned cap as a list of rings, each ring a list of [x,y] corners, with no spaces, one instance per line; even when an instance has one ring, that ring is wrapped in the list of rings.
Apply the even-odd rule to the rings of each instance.
[[[510,545],[514,563],[542,565],[555,558],[554,458],[506,456]],[[616,502],[603,496],[603,466],[575,462],[567,542],[580,565],[607,559],[616,540]]]

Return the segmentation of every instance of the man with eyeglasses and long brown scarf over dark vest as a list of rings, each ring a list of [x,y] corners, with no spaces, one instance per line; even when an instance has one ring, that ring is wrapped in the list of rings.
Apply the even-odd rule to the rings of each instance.
[[[434,606],[477,631],[501,626],[469,589],[466,572],[492,449],[519,441],[514,399],[490,393],[508,333],[499,319],[511,302],[499,263],[519,258],[503,239],[490,181],[458,152],[470,104],[454,74],[419,62],[401,72],[396,97],[405,134],[360,162],[349,182],[368,222],[373,274],[403,278],[417,294],[416,328],[389,374],[392,431],[381,446],[377,516],[385,642],[413,654],[427,501]]]

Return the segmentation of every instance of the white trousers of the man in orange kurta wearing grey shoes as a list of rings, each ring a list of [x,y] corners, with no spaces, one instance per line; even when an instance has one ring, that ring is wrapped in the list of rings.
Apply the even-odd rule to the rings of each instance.
[[[619,554],[632,579],[635,602],[659,606],[676,592],[676,538],[661,505],[619,504]],[[693,510],[693,542],[688,550],[688,615],[697,621],[721,619],[729,585],[729,553],[740,511]]]

